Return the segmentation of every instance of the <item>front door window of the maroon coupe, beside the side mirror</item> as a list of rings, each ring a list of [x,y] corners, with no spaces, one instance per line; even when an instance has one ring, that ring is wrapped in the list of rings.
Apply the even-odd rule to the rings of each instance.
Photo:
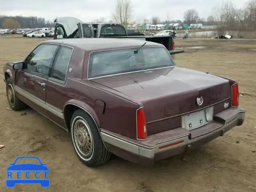
[[[41,44],[39,45],[24,62],[24,69],[48,77],[50,65],[57,45]]]

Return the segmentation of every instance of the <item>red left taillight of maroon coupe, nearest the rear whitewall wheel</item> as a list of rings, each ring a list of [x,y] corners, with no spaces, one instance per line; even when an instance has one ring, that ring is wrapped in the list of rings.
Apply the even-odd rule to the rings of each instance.
[[[137,139],[138,140],[146,140],[148,137],[147,134],[147,126],[146,126],[146,117],[143,108],[137,110],[136,113],[137,120]]]

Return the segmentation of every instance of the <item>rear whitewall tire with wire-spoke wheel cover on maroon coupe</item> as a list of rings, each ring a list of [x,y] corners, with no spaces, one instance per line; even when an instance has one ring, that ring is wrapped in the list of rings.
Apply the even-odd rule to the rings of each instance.
[[[71,139],[75,152],[84,164],[96,167],[107,162],[111,153],[104,146],[98,127],[82,109],[74,112],[71,122]]]

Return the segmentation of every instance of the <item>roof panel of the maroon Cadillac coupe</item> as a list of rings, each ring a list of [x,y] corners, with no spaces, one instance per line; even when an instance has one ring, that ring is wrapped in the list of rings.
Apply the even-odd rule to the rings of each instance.
[[[71,47],[78,47],[86,51],[108,50],[118,48],[135,48],[142,46],[145,40],[134,40],[131,38],[74,38],[74,39],[58,39],[48,40],[44,43],[63,44]],[[163,46],[162,44],[148,41],[147,46]]]

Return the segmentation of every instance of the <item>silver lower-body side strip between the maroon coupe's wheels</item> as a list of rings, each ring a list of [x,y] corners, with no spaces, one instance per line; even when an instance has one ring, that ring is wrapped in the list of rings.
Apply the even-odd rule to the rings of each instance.
[[[41,100],[40,98],[30,94],[29,92],[23,90],[22,88],[18,87],[18,86],[14,86],[16,92],[18,92],[19,94],[21,94],[22,96],[26,97],[27,99],[31,100],[32,102],[36,103],[37,105],[39,105],[40,107],[48,110],[49,112],[51,112],[52,114],[64,119],[64,115],[62,110],[60,110],[59,108],[56,108],[55,106]]]

